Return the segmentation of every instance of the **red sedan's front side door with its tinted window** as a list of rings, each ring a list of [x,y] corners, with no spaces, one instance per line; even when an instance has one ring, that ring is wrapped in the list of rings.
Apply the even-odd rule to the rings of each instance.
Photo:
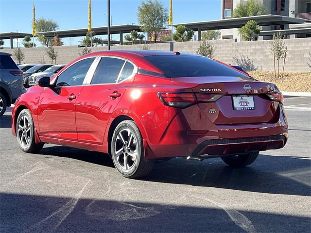
[[[94,59],[74,63],[59,74],[53,87],[44,88],[38,107],[40,136],[77,141],[75,103]]]

